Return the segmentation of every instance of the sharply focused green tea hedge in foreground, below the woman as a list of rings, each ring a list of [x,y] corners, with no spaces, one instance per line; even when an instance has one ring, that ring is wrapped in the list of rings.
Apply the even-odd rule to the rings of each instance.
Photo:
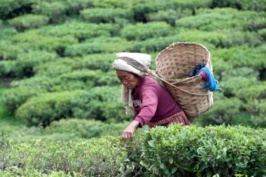
[[[243,126],[158,126],[121,137],[33,144],[0,139],[3,172],[84,176],[263,176],[266,131]],[[7,153],[8,152],[8,153]],[[15,167],[14,167],[15,164]],[[17,165],[16,165],[17,164]],[[61,174],[62,175],[62,174]]]

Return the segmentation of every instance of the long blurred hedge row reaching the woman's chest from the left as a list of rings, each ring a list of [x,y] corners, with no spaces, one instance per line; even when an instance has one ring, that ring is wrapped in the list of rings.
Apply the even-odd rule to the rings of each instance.
[[[120,87],[110,86],[93,87],[89,91],[44,93],[23,103],[16,111],[16,118],[27,121],[29,125],[42,126],[71,117],[109,122],[129,120],[132,115],[124,115],[119,93]]]

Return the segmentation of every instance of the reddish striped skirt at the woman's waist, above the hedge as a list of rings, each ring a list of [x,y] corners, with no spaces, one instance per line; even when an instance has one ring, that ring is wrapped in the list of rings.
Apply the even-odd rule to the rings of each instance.
[[[191,126],[191,123],[187,120],[184,111],[181,109],[176,114],[164,118],[162,120],[159,120],[157,122],[148,122],[149,128],[155,127],[155,126],[165,126],[168,127],[171,123],[183,123],[183,125]]]

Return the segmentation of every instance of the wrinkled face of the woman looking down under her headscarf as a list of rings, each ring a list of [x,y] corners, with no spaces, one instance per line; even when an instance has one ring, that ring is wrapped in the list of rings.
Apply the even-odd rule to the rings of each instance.
[[[138,75],[122,70],[116,70],[116,74],[126,88],[133,89],[140,84],[141,78]]]

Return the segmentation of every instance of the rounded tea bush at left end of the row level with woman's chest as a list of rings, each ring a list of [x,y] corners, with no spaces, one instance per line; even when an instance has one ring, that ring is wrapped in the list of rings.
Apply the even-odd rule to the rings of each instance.
[[[81,91],[44,93],[32,97],[16,111],[16,118],[26,120],[29,125],[47,126],[51,121],[71,117],[71,99]]]

